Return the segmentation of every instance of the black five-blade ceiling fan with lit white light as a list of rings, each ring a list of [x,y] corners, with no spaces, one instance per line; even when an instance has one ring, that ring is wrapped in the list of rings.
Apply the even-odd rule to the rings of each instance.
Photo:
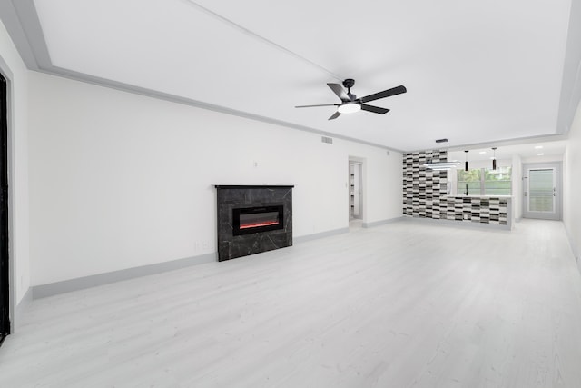
[[[337,106],[337,112],[331,115],[329,117],[329,120],[334,120],[341,114],[351,114],[354,112],[358,112],[359,110],[372,112],[374,114],[387,114],[389,112],[389,109],[380,108],[379,106],[368,105],[365,103],[369,103],[369,101],[379,100],[379,98],[389,97],[391,95],[400,95],[408,91],[404,85],[399,85],[396,87],[392,87],[391,89],[384,90],[383,92],[357,98],[357,95],[351,94],[351,87],[355,85],[354,79],[348,78],[345,81],[343,81],[343,87],[347,88],[347,92],[345,92],[345,89],[343,89],[339,84],[327,84],[327,85],[330,87],[330,90],[332,90],[335,93],[335,95],[337,95],[341,99],[341,104],[300,105],[295,106],[295,108],[311,108],[315,106]]]

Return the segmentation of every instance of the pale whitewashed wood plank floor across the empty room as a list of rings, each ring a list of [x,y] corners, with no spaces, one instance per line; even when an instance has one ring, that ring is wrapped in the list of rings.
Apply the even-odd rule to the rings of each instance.
[[[563,224],[403,221],[34,301],[0,387],[580,387]]]

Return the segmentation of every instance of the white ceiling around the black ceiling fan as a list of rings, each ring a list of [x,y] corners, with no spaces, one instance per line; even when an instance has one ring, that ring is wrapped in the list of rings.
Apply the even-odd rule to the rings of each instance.
[[[27,65],[48,73],[402,151],[563,132],[570,0],[12,4]],[[294,108],[338,103],[326,83],[348,77],[359,97],[408,93],[370,103],[391,109],[384,115],[329,121],[332,106]]]

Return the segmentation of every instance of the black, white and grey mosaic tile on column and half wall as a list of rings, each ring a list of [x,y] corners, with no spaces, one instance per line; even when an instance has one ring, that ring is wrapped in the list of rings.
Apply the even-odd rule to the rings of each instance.
[[[448,152],[403,155],[403,214],[410,217],[507,225],[508,198],[448,196],[448,172],[422,164],[446,162]]]

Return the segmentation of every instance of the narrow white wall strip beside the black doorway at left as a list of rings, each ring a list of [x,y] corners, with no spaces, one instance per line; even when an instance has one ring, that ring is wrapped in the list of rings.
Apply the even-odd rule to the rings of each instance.
[[[5,25],[0,22],[0,71],[8,77],[10,246],[13,304],[20,303],[30,285],[28,234],[27,75]],[[14,305],[13,305],[14,307]]]

